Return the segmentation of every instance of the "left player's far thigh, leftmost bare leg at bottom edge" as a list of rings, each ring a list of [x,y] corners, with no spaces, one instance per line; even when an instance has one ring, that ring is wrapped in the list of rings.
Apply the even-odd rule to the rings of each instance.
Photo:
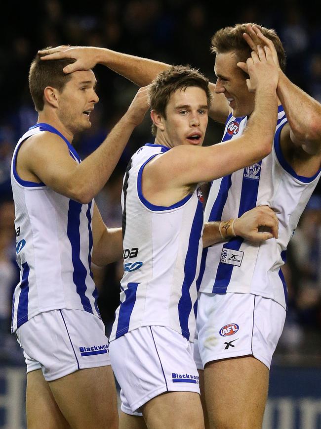
[[[41,370],[27,375],[26,414],[28,429],[70,429],[60,411]]]

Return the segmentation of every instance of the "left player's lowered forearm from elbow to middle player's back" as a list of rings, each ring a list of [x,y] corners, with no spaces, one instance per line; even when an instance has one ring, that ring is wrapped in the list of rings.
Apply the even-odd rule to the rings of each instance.
[[[106,228],[94,248],[92,262],[100,267],[122,258],[122,229]]]

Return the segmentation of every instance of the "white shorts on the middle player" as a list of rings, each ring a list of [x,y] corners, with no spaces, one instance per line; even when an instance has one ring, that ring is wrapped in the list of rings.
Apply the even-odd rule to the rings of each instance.
[[[137,328],[111,341],[109,349],[126,414],[141,416],[140,407],[164,392],[200,394],[193,344],[171,328]]]

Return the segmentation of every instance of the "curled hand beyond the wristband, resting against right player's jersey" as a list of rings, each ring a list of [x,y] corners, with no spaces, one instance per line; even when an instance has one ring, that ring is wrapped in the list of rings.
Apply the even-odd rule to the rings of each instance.
[[[260,232],[268,230],[269,232]],[[249,241],[265,241],[279,237],[279,221],[275,212],[268,206],[254,207],[234,221],[237,236]]]

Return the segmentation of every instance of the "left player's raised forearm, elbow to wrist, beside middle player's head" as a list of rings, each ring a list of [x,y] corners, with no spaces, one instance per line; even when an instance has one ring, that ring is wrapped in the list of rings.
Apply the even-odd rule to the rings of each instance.
[[[106,184],[134,128],[135,124],[124,115],[104,142],[71,174],[70,186],[80,202],[91,201]]]

